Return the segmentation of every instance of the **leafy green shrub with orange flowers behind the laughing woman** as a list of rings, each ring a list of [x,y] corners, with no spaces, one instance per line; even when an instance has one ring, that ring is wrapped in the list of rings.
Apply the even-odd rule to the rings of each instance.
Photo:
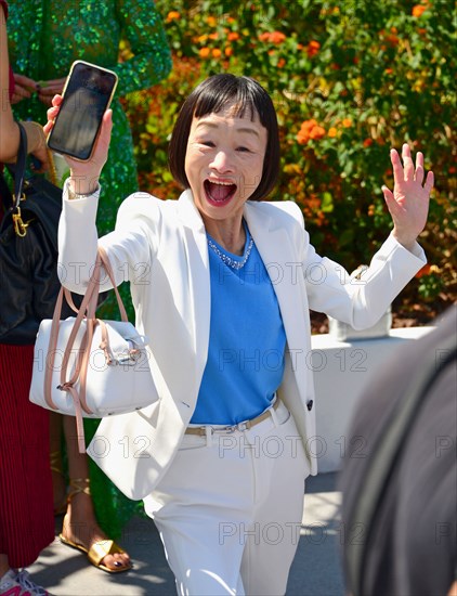
[[[179,107],[208,75],[246,74],[275,103],[282,176],[312,242],[348,269],[390,226],[390,147],[408,142],[435,172],[421,236],[433,269],[402,300],[448,301],[455,284],[455,43],[447,0],[157,0],[174,56],[167,81],[126,99],[142,190],[178,196],[167,144]]]

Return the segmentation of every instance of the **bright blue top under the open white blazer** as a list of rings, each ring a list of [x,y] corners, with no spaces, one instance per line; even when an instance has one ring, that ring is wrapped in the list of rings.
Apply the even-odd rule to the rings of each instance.
[[[232,261],[246,258],[251,235],[246,224],[241,257],[209,242]],[[234,269],[208,246],[211,319],[208,361],[192,424],[234,425],[256,417],[283,380],[286,333],[276,294],[253,244],[248,260]]]

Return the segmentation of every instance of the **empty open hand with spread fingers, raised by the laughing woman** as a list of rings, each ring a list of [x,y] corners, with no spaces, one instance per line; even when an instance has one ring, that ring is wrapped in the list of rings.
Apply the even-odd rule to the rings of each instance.
[[[393,167],[393,193],[387,186],[382,186],[382,192],[393,220],[392,234],[405,248],[412,249],[427,223],[433,172],[428,172],[423,183],[423,155],[417,153],[415,167],[406,143],[402,147],[403,166],[395,150],[391,150],[390,158]]]

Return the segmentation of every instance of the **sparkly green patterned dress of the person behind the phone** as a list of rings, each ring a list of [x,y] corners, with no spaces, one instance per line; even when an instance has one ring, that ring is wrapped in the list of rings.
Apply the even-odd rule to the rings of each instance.
[[[101,179],[97,226],[102,235],[114,229],[119,204],[138,190],[132,135],[118,98],[158,83],[171,69],[161,17],[152,0],[11,0],[9,7],[10,60],[14,73],[36,81],[58,79],[68,74],[75,60],[86,60],[119,76],[112,105],[113,139]],[[133,57],[118,63],[121,40],[128,41]],[[47,107],[36,94],[13,108],[18,119],[47,121]],[[122,295],[126,297],[126,291]],[[112,299],[104,310],[109,313]],[[97,420],[86,420],[87,440],[92,438],[96,426]],[[125,497],[92,461],[90,466],[99,523],[109,536],[117,537],[140,507]]]

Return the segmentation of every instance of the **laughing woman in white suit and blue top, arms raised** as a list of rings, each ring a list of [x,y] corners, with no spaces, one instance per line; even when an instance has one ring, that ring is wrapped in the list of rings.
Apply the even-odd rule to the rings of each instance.
[[[56,96],[49,112],[58,113]],[[89,453],[157,524],[180,594],[284,594],[304,479],[316,472],[309,309],[373,325],[426,262],[416,243],[433,176],[395,151],[394,228],[352,285],[316,255],[293,203],[266,203],[276,115],[254,80],[217,75],[184,103],[170,143],[179,200],[135,193],[97,238],[110,113],[90,161],[68,160],[63,282],[84,291],[102,245],[128,278],[159,401],[105,418]],[[82,241],[82,242],[81,242]],[[108,285],[106,285],[108,287]]]

